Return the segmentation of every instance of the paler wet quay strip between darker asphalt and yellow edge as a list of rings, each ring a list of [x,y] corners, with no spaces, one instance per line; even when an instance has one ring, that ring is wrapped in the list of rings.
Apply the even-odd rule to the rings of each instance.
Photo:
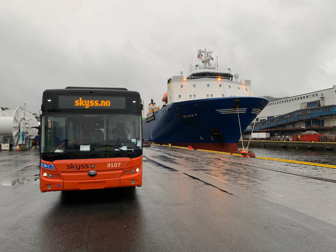
[[[144,155],[204,181],[216,180],[336,224],[336,216],[330,214],[336,212],[336,169],[167,148],[153,146]],[[158,152],[167,157],[156,159]],[[171,158],[176,161],[168,162]]]

